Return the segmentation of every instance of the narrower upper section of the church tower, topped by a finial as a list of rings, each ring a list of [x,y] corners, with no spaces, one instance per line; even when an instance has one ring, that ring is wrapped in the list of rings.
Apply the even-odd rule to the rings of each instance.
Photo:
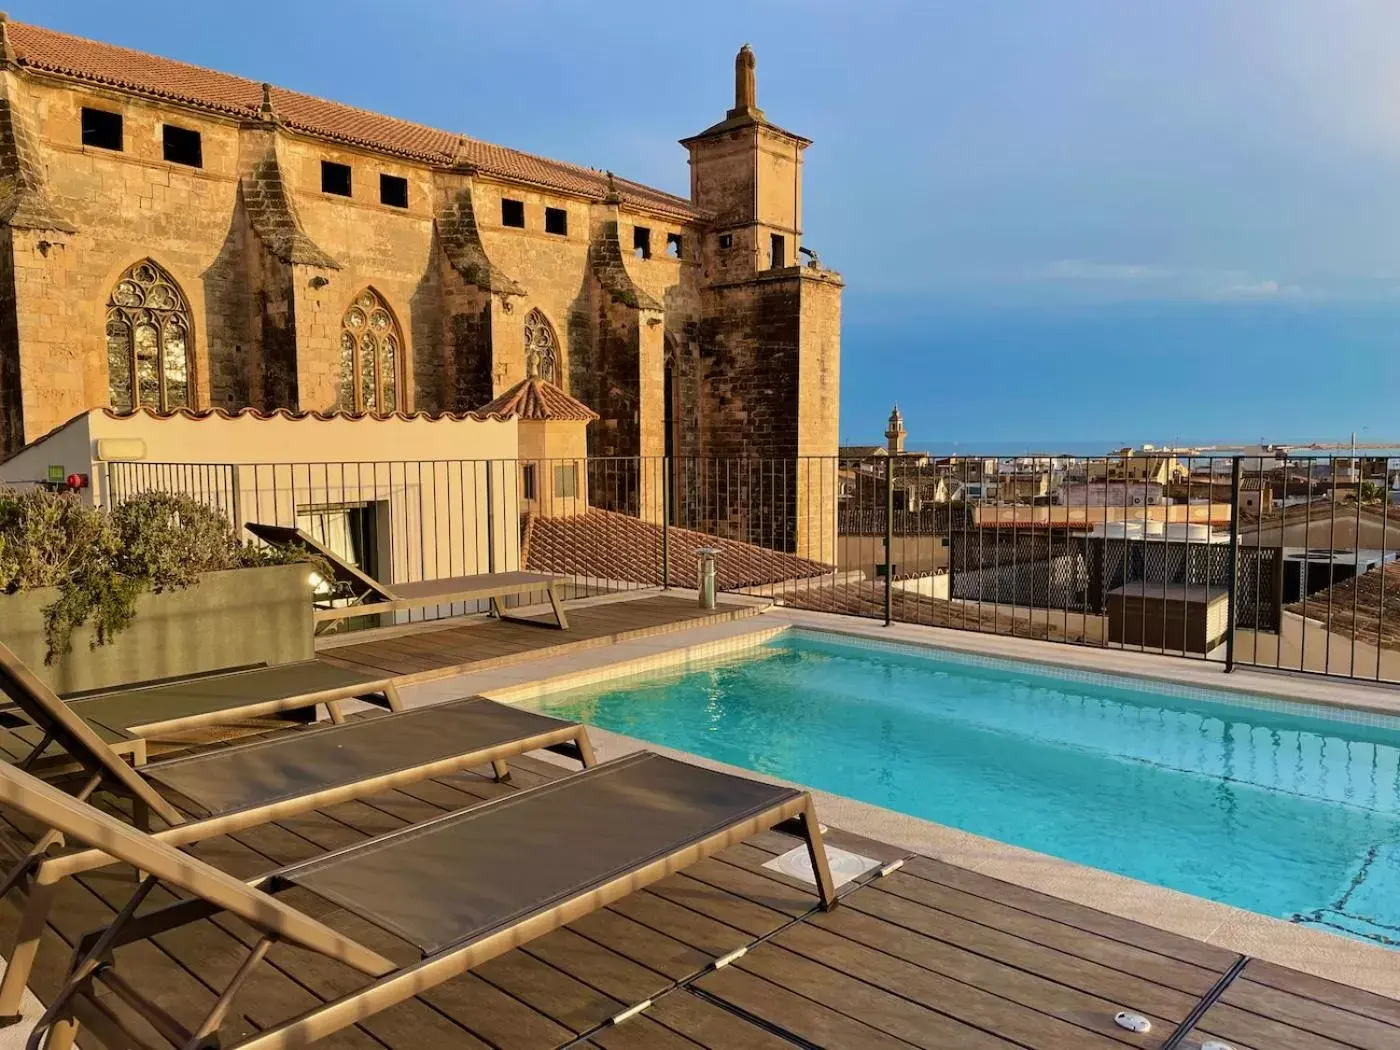
[[[797,266],[802,153],[812,143],[759,109],[757,60],[748,43],[734,56],[734,108],[680,144],[690,151],[690,199],[715,213],[706,244],[711,277]]]

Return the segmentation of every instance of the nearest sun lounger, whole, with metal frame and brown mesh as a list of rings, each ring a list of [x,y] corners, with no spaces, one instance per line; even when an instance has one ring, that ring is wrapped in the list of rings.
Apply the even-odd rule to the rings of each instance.
[[[69,977],[38,1022],[36,1033],[46,1032],[50,1050],[73,1044],[80,1019],[116,1025],[116,1012],[101,1007],[108,995],[172,1044],[196,1046],[218,1030],[273,944],[294,945],[363,974],[354,990],[237,1044],[305,1046],[794,818],[805,830],[820,903],[836,903],[808,792],[648,752],[251,882],[14,767],[0,767],[0,802],[146,872],[112,924],[78,941]],[[36,878],[59,864],[62,858],[43,861]],[[188,899],[137,916],[157,885],[183,890]],[[291,888],[301,892],[279,899]],[[326,914],[323,906],[302,910],[307,890],[356,923],[396,935],[406,942],[402,956],[413,958],[391,960],[381,953],[382,937],[371,946],[322,923],[315,916]],[[158,988],[141,990],[123,977],[122,948],[216,914],[241,918],[255,939],[203,1021],[186,1030],[151,1001]],[[398,949],[392,953],[402,958]],[[102,1032],[95,1035],[102,1039]]]

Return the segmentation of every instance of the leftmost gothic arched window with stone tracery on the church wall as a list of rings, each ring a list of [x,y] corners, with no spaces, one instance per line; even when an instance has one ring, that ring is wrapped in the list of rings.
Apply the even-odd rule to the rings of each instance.
[[[106,375],[112,407],[161,412],[193,403],[189,307],[150,259],[122,274],[106,301]]]

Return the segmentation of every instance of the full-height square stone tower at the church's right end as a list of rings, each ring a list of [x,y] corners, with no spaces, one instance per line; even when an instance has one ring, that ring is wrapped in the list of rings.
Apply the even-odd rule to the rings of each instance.
[[[734,60],[734,106],[680,144],[690,151],[690,200],[713,214],[701,245],[700,346],[711,363],[699,445],[711,456],[791,461],[788,508],[741,491],[727,517],[745,515],[750,535],[774,546],[830,560],[841,279],[811,252],[811,265],[798,263],[802,158],[812,143],[759,108],[756,60],[743,45]],[[756,522],[748,517],[755,512],[781,519]]]

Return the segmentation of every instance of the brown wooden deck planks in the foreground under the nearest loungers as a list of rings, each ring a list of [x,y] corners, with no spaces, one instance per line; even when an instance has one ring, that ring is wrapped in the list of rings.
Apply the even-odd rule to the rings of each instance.
[[[197,853],[251,876],[567,774],[533,759],[512,766],[512,785],[456,774],[213,840]],[[319,1046],[1110,1050],[1194,1049],[1212,1037],[1236,1050],[1400,1046],[1400,1001],[1242,960],[837,830],[829,841],[904,865],[846,886],[841,906],[822,913],[811,888],[762,867],[798,840],[764,833]],[[57,986],[69,945],[108,920],[134,885],[133,872],[120,868],[66,883],[32,983],[41,998]],[[316,913],[389,955],[403,948],[326,902]],[[6,902],[4,944],[13,942],[15,921]],[[224,917],[123,948],[120,962],[129,979],[192,1023],[249,944],[248,928]],[[739,948],[748,949],[742,958],[713,967]],[[238,997],[225,1039],[363,980],[286,946],[274,948],[270,962]],[[609,1023],[647,1000],[641,1014]],[[1152,1030],[1117,1028],[1119,1009],[1151,1018]],[[88,1035],[84,1046],[92,1043]]]

